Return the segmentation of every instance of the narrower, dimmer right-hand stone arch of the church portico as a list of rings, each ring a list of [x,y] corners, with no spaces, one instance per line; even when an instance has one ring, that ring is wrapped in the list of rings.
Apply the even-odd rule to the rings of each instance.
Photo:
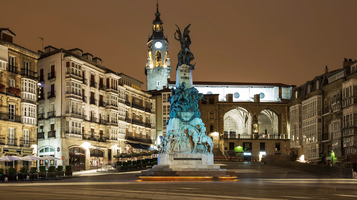
[[[259,138],[281,138],[278,115],[274,111],[263,109],[258,116],[258,125]]]

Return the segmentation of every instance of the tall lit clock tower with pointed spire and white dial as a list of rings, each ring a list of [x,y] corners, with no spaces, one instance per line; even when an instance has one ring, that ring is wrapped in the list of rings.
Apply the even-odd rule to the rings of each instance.
[[[159,4],[156,4],[153,34],[147,42],[148,58],[145,67],[147,91],[162,90],[164,86],[168,86],[167,80],[170,78],[169,41],[164,35],[162,24]]]

